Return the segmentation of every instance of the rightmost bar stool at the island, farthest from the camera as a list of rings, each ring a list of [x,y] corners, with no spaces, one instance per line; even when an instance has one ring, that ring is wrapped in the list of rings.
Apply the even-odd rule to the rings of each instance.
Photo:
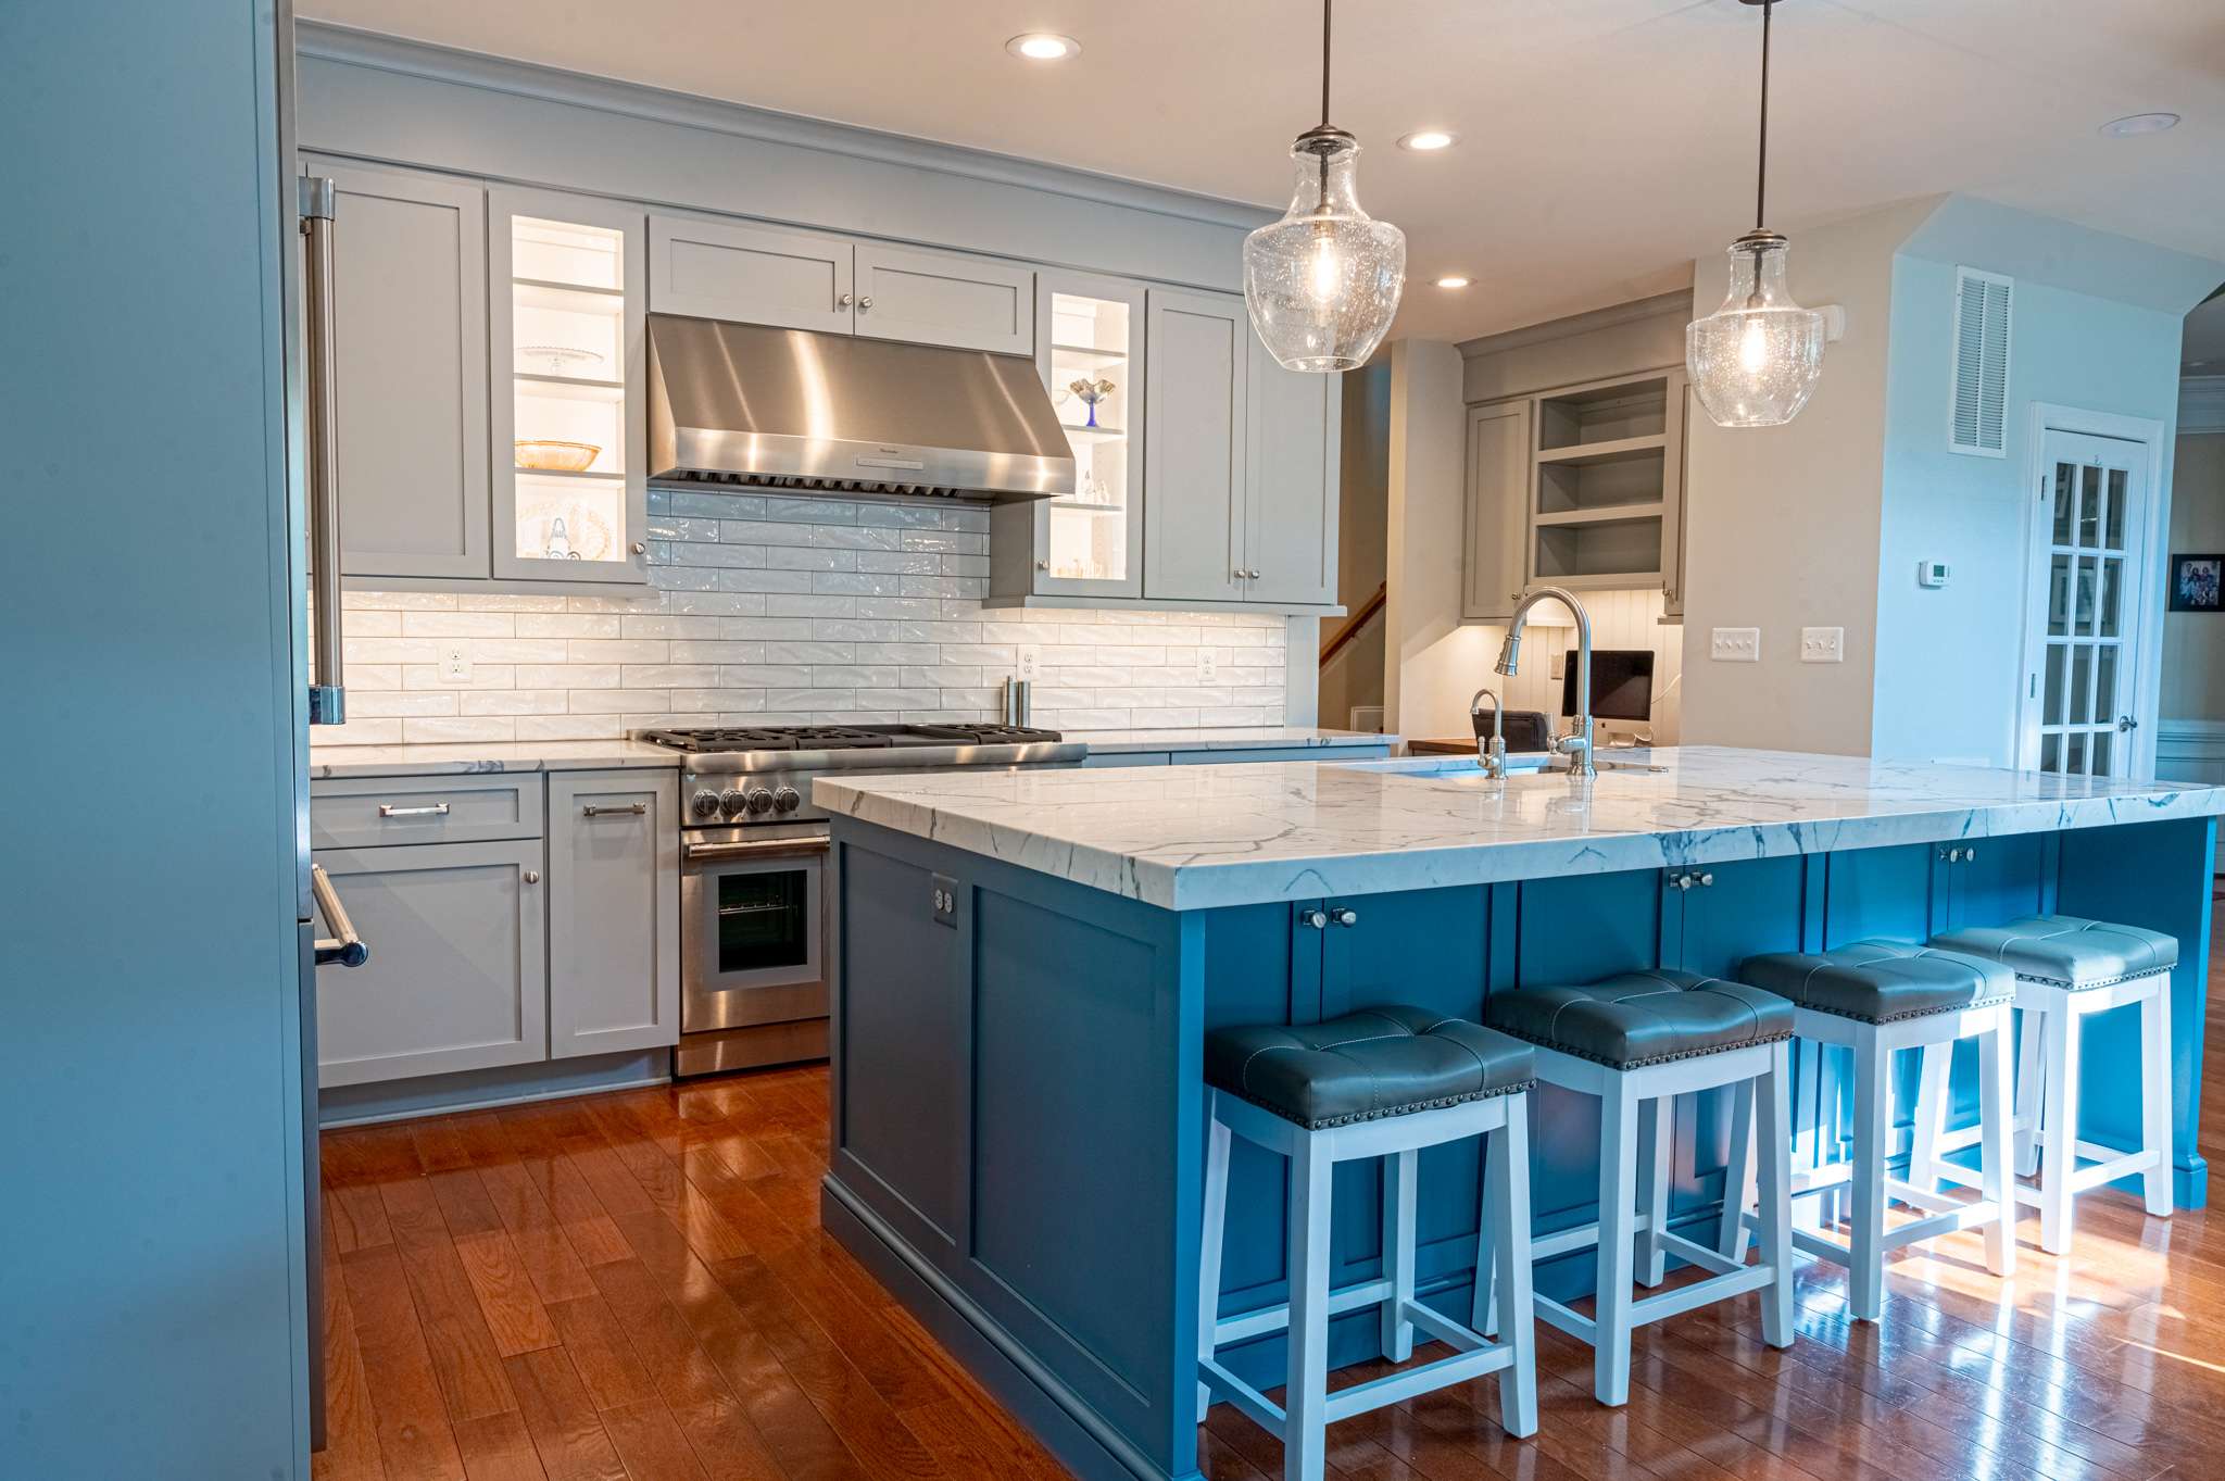
[[[2085,916],[2023,916],[1934,936],[1931,945],[1982,956],[2016,974],[2025,1010],[2023,1070],[2016,1081],[2016,1170],[2038,1172],[2038,1187],[2016,1199],[2040,1207],[2040,1250],[2069,1254],[2071,1201],[2089,1187],[2140,1174],[2147,1212],[2172,1212],[2172,967],[2178,938],[2138,925]],[[2078,1141],[2078,1038],[2083,1023],[2112,1007],[2140,1005],[2140,1150]],[[1909,1176],[1969,1183],[1940,1154],[1969,1145],[1969,1130],[1945,1132],[1945,1054],[1925,1052],[1916,1101],[1918,1159]],[[2034,1156],[2036,1154],[2036,1156]],[[2080,1167],[2078,1159],[2092,1159]]]

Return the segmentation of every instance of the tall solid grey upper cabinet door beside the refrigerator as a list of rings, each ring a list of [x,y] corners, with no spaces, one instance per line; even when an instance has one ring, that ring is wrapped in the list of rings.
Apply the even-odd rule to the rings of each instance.
[[[487,576],[487,198],[474,180],[332,176],[334,402],[347,576]]]

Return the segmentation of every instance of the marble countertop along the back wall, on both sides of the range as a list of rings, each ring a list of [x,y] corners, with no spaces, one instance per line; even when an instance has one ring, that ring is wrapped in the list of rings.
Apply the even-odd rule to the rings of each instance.
[[[1095,754],[1297,749],[1315,745],[1397,745],[1397,736],[1311,725],[1242,729],[1077,729],[1070,740]],[[516,745],[312,745],[309,776],[458,776],[467,772],[603,772],[676,767],[679,752],[645,740],[538,740]]]

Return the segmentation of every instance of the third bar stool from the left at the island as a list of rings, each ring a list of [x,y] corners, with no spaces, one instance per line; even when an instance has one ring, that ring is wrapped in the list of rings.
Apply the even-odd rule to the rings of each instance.
[[[1853,1161],[1793,1172],[1793,1196],[1851,1183],[1851,1236],[1840,1243],[1820,1230],[1793,1230],[1793,1248],[1847,1268],[1847,1310],[1856,1321],[1885,1312],[1885,1252],[1951,1230],[1985,1227],[1985,1268],[2016,1270],[2016,1205],[2009,1174],[2009,1007],[2016,983],[1996,963],[1936,952],[1900,941],[1856,941],[1829,952],[1751,956],[1738,976],[1793,1005],[1793,1032],[1816,1043],[1853,1050]],[[1885,1172],[1891,1152],[1893,1054],[1898,1050],[1954,1052],[1956,1041],[1978,1041],[1980,1190],[1976,1203],[1940,1199],[1911,1172],[1902,1183]],[[1922,1123],[1918,1121],[1918,1127]],[[1744,1101],[1731,1123],[1731,1172],[1724,1192],[1747,1187],[1751,1114]],[[1767,1132],[1764,1132],[1767,1134]],[[1918,1141],[1922,1136],[1918,1134]],[[1885,1227],[1887,1199],[1925,1210],[1922,1219]],[[1744,1199],[1724,1199],[1722,1252],[1740,1256],[1747,1239]]]

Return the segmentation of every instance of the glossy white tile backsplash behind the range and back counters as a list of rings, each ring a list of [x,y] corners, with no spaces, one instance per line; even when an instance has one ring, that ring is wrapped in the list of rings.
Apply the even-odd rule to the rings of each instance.
[[[988,511],[650,489],[639,596],[347,594],[349,723],[320,745],[612,740],[645,725],[997,720],[1021,643],[1035,723],[1284,723],[1284,618],[995,609]],[[441,678],[463,649],[469,683]],[[1213,649],[1217,683],[1197,683]]]

